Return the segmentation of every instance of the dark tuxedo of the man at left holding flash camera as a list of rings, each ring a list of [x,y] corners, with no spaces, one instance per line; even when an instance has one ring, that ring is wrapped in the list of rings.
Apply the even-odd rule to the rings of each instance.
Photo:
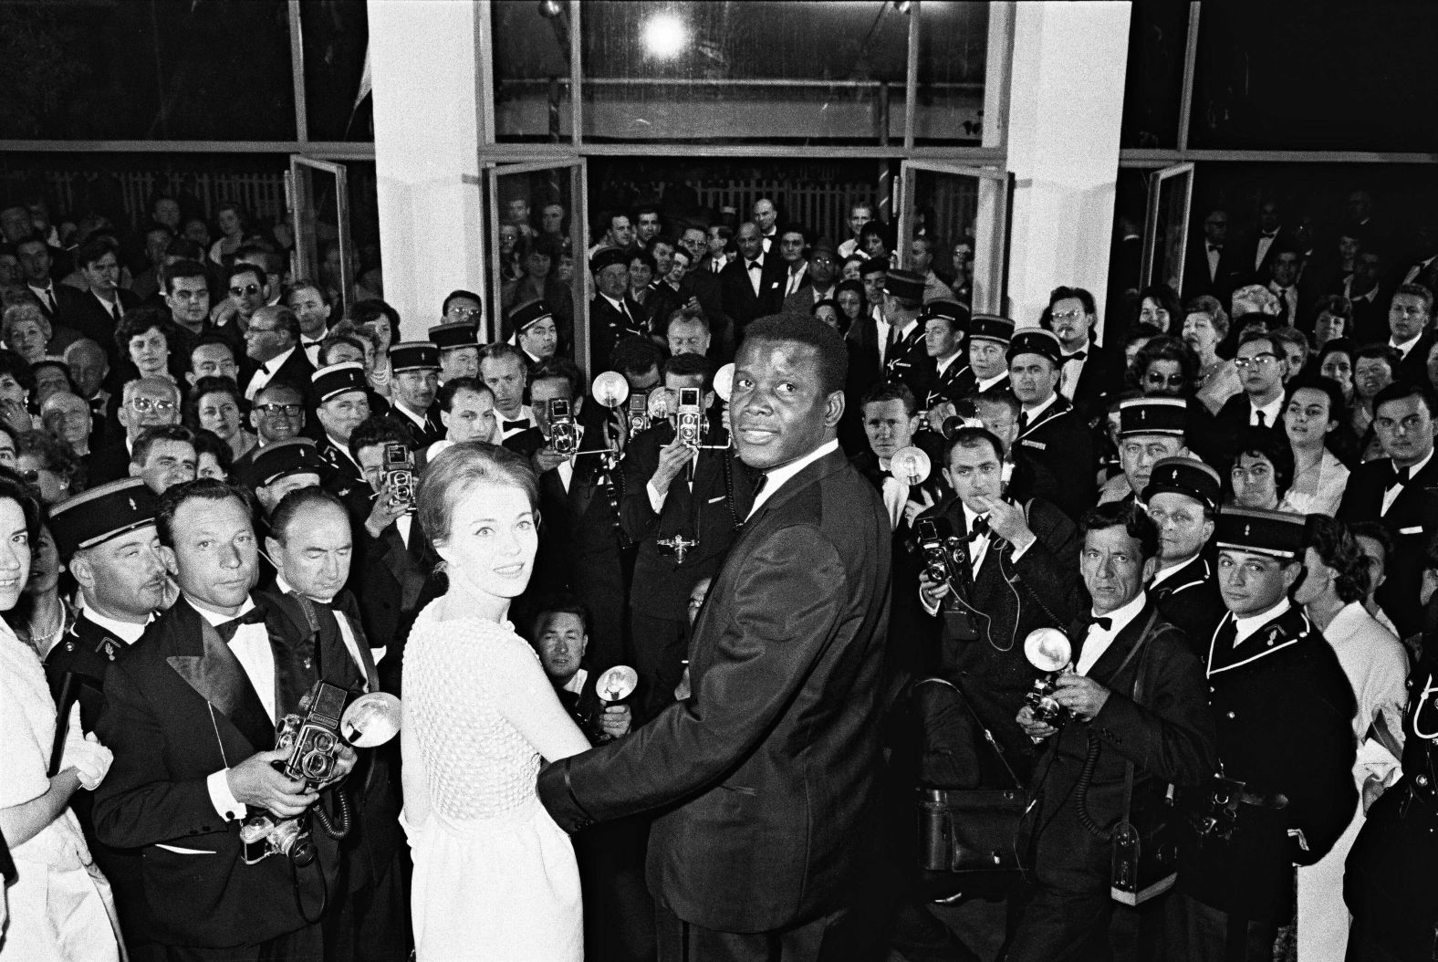
[[[188,601],[177,601],[109,666],[96,732],[115,764],[95,792],[95,833],[108,846],[139,850],[144,912],[122,919],[127,932],[223,948],[306,925],[288,860],[244,864],[240,821],[226,821],[210,801],[206,778],[273,748],[275,723],[229,646]],[[336,864],[322,831],[315,843],[325,879],[299,874],[309,913],[319,909],[322,881],[334,884]]]

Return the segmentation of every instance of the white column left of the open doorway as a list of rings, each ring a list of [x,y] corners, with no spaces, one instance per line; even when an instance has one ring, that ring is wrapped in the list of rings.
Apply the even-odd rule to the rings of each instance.
[[[384,299],[406,339],[450,290],[485,292],[479,37],[487,4],[368,0]],[[493,305],[485,303],[486,319]]]

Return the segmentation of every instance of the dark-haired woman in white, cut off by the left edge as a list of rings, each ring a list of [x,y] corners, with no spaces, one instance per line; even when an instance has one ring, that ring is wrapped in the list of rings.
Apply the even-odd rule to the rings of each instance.
[[[35,500],[0,477],[0,611],[20,598],[39,531]],[[121,952],[109,883],[69,810],[78,788],[93,789],[105,778],[111,753],[81,732],[76,706],[60,771],[49,777],[55,725],[40,656],[0,621],[0,834],[17,876],[0,962],[114,962]]]

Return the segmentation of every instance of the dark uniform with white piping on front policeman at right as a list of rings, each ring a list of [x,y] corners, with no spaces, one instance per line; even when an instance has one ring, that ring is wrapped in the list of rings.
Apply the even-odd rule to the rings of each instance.
[[[1240,802],[1228,841],[1199,841],[1188,828],[1178,887],[1234,923],[1284,925],[1293,917],[1293,864],[1327,854],[1357,807],[1353,689],[1332,646],[1297,607],[1237,644],[1234,618],[1225,615],[1204,663],[1219,771],[1244,782],[1248,797],[1283,795],[1286,802]],[[1192,808],[1194,795],[1206,792],[1196,789],[1181,805]],[[1221,946],[1211,948],[1205,958],[1222,955]]]

